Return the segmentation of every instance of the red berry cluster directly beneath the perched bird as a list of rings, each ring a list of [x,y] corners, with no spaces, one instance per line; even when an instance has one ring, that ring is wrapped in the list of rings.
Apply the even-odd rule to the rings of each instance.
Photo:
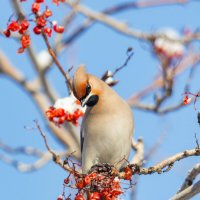
[[[131,180],[132,171],[126,167],[124,170],[125,180]],[[75,200],[116,200],[119,195],[123,194],[120,186],[120,180],[117,177],[117,170],[107,164],[98,164],[91,168],[88,174],[80,174],[75,169],[64,179],[64,187],[75,188],[78,192],[75,195]],[[72,183],[75,182],[75,185]],[[57,200],[69,200],[65,194],[59,195]]]

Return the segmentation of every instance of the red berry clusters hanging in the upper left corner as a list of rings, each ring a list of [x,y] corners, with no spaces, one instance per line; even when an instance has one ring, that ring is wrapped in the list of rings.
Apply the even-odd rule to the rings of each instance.
[[[21,0],[21,2],[24,2],[26,0]],[[57,5],[59,2],[63,2],[63,0],[53,0],[53,3],[56,3]],[[41,12],[41,4],[45,5],[45,9],[43,12]],[[51,17],[52,11],[48,8],[48,6],[45,4],[44,0],[34,0],[31,6],[31,14],[28,16],[34,15],[34,19],[28,19],[27,17],[24,17],[24,19],[9,19],[7,28],[4,31],[4,35],[6,37],[10,37],[11,32],[18,32],[20,34],[20,42],[21,47],[18,49],[18,53],[23,53],[24,50],[31,44],[31,38],[30,38],[30,22],[34,22],[35,26],[33,28],[33,33],[36,35],[39,35],[41,33],[46,34],[48,37],[51,37],[52,30],[54,30],[56,33],[63,33],[64,27],[58,26],[56,21],[50,21],[49,17]]]

